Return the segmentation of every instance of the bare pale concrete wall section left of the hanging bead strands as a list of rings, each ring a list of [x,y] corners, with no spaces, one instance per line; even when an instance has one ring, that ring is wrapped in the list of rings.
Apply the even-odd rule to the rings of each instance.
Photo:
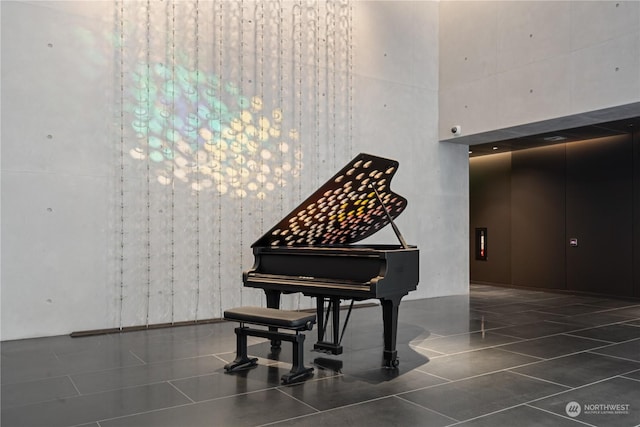
[[[3,340],[110,323],[114,78],[69,31],[84,11],[1,4]]]

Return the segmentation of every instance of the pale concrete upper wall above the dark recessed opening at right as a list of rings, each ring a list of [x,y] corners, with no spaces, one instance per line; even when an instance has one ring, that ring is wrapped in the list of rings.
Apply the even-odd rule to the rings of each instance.
[[[637,1],[442,1],[440,139],[640,101]]]

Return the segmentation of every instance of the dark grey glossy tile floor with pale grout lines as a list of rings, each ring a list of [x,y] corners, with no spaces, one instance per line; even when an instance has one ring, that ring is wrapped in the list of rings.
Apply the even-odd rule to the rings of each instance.
[[[281,386],[290,345],[251,338],[257,368],[225,374],[234,324],[1,344],[3,427],[637,426],[640,302],[471,285],[405,301],[397,370],[382,316],[354,310],[340,356]]]

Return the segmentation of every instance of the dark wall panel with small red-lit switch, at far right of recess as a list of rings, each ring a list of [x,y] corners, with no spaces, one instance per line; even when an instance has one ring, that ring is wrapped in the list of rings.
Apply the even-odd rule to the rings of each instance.
[[[632,291],[633,150],[628,135],[567,144],[567,288]],[[569,246],[577,239],[577,246]]]

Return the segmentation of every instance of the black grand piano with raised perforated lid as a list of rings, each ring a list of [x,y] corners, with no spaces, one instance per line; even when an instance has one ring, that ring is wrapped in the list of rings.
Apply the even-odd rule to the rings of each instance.
[[[397,169],[395,160],[356,156],[252,245],[255,262],[243,273],[244,286],[263,289],[270,308],[280,308],[283,293],[315,297],[314,349],[334,355],[342,353],[354,301],[379,299],[386,368],[398,366],[400,300],[416,289],[419,270],[418,249],[393,221],[407,205],[390,189]],[[399,244],[354,244],[389,224]],[[341,330],[341,302],[349,300]]]

